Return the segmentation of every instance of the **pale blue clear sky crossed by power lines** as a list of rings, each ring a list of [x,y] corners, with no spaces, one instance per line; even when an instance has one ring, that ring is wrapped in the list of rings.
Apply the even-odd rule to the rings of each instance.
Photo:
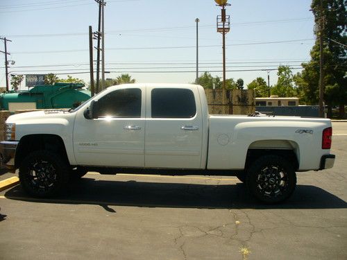
[[[105,78],[129,73],[138,83],[194,83],[198,18],[199,75],[222,77],[221,8],[213,0],[105,0]],[[300,71],[314,44],[311,0],[229,0],[226,78],[276,84],[276,69]],[[90,82],[88,26],[97,31],[94,0],[1,0],[12,74],[59,73]],[[96,46],[96,40],[94,40]],[[4,51],[0,40],[0,51]],[[94,50],[96,60],[96,50]],[[0,53],[0,86],[6,85]],[[95,66],[94,66],[95,68]],[[84,72],[84,73],[83,73]],[[60,74],[61,73],[61,74]],[[22,88],[25,83],[22,83]]]

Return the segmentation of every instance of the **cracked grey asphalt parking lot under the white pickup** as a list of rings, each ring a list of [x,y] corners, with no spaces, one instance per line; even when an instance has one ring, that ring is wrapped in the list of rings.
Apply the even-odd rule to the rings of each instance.
[[[54,200],[11,187],[0,259],[347,259],[347,122],[333,127],[335,167],[298,173],[282,205],[236,177],[88,173]]]

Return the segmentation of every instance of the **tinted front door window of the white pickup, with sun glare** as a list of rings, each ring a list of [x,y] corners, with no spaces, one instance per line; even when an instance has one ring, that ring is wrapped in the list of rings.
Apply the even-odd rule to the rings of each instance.
[[[99,99],[99,117],[141,117],[141,89],[118,89]]]

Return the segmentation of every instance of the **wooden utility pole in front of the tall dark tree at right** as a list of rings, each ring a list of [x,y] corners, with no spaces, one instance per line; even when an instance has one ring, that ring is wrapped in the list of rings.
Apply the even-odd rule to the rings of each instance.
[[[323,29],[324,29],[324,15],[323,15],[323,1],[319,10],[319,116],[324,117],[324,57],[323,57]]]

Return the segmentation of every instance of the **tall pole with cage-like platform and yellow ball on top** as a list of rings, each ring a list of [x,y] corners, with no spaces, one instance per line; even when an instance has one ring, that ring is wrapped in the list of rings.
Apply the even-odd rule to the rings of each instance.
[[[221,7],[221,15],[217,15],[217,32],[223,35],[223,89],[226,89],[226,33],[230,31],[230,15],[226,15],[228,0],[214,0]]]

